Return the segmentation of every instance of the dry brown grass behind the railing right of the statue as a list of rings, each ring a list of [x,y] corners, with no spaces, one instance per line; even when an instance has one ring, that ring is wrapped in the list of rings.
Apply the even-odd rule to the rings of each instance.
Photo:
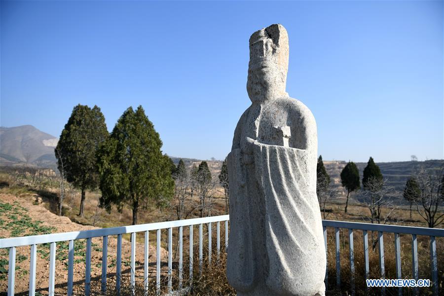
[[[381,278],[379,268],[379,250],[378,247],[373,250],[371,247],[371,232],[369,231],[369,266],[370,278]],[[377,234],[374,233],[374,238]],[[411,236],[400,235],[401,239],[401,271],[403,279],[413,278],[412,264],[411,264]],[[430,252],[429,252],[429,238],[425,236],[418,236],[418,262],[419,262],[419,278],[431,279],[430,272]],[[365,286],[365,266],[364,266],[364,247],[363,234],[360,230],[355,230],[353,235],[354,246],[354,262],[355,262],[355,291],[356,295],[364,295],[366,292]],[[440,291],[444,283],[444,238],[437,238],[437,256],[438,256],[438,279]],[[341,229],[340,235],[340,291],[342,293],[350,293],[351,291],[351,269],[350,269],[350,252],[348,229]],[[385,278],[396,279],[396,258],[395,258],[395,244],[394,234],[384,233],[384,266]],[[336,250],[333,229],[328,231],[328,282],[331,289],[336,289]],[[413,295],[412,288],[404,288],[403,295]],[[372,288],[368,291],[368,295],[379,295],[380,289]],[[398,295],[397,288],[387,288],[387,295]],[[432,288],[420,289],[420,295],[432,295]]]

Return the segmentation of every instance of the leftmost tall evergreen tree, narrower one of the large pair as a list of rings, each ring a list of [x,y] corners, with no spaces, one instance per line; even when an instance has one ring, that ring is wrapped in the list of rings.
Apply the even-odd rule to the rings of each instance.
[[[108,136],[100,108],[79,104],[74,107],[55,148],[59,170],[63,164],[66,180],[81,191],[79,216],[83,215],[86,189],[95,189],[99,184],[96,152]]]

